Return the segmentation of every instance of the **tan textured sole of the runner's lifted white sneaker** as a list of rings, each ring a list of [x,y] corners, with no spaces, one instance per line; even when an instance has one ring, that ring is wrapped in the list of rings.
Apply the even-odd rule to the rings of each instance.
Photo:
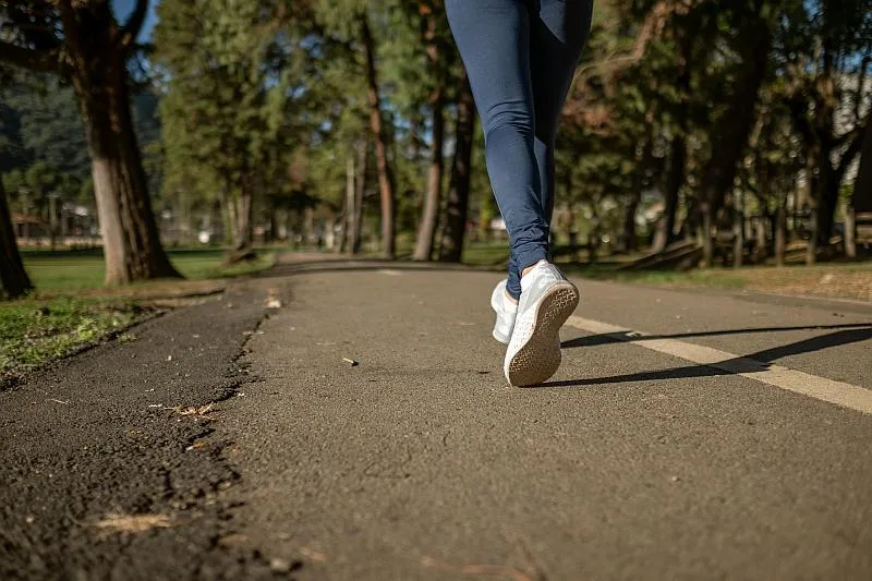
[[[579,291],[571,283],[555,285],[536,307],[533,332],[506,368],[506,378],[516,387],[548,380],[560,367],[560,327],[576,311]]]

